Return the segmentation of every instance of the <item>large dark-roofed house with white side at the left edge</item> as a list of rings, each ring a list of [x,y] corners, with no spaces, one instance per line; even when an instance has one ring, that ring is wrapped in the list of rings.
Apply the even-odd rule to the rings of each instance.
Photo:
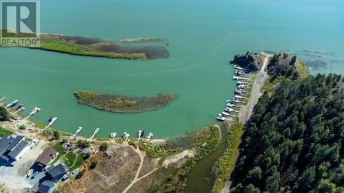
[[[6,161],[19,159],[29,149],[28,142],[23,139],[21,135],[16,137],[3,135],[0,139],[0,158]]]

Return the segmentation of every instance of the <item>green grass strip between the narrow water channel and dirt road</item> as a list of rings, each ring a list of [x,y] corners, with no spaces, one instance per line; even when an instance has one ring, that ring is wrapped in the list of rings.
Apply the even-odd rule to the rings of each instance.
[[[240,139],[244,133],[243,128],[243,124],[237,123],[228,131],[226,137],[226,150],[213,167],[216,179],[211,192],[220,192],[224,187],[224,183],[226,183],[227,177],[233,170],[235,159],[239,152]]]

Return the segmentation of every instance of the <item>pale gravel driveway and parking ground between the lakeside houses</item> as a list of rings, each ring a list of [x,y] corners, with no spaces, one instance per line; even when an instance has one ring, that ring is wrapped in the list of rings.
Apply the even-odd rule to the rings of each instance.
[[[47,141],[39,141],[36,146],[25,152],[21,159],[14,161],[13,166],[10,166],[6,161],[1,161],[0,187],[5,189],[6,192],[25,192],[25,190],[37,184],[45,176],[44,172],[39,172],[34,178],[32,176],[27,178],[27,174],[46,145]]]

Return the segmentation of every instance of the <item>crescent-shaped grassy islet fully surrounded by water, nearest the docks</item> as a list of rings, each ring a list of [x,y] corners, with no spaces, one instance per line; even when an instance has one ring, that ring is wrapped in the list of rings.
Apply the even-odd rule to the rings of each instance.
[[[80,104],[86,104],[102,111],[114,113],[140,113],[167,106],[175,100],[175,94],[157,94],[148,97],[127,97],[116,94],[76,91],[74,93]]]

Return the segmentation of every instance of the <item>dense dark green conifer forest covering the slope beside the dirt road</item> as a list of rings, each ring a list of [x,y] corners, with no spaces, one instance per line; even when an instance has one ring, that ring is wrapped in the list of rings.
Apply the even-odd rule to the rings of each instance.
[[[264,93],[230,192],[344,192],[343,82],[318,74]]]

